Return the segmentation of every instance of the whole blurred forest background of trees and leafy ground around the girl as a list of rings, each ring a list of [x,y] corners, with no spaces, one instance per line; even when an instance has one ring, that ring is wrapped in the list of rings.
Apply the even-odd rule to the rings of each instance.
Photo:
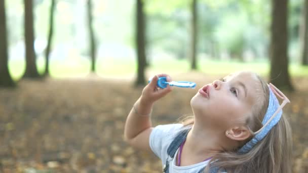
[[[308,172],[308,0],[0,0],[0,172],[160,172],[123,141],[147,78],[238,70],[290,98],[292,172]],[[163,98],[153,124],[195,93]]]

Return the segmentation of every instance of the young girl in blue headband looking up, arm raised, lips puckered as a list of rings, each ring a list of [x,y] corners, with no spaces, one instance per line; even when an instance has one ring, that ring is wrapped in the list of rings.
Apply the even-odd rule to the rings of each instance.
[[[282,115],[290,102],[252,72],[236,72],[203,86],[191,99],[193,117],[151,126],[153,103],[172,91],[145,86],[130,111],[124,136],[162,159],[164,172],[291,172],[291,128]],[[283,99],[281,105],[276,96]]]

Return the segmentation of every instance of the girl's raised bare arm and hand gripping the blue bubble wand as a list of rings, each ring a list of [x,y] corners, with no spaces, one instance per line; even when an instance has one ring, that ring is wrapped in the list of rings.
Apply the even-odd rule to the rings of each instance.
[[[124,139],[133,147],[150,150],[149,135],[152,131],[152,124],[149,115],[152,106],[155,101],[166,96],[172,90],[169,85],[165,89],[157,88],[158,77],[162,76],[166,76],[167,81],[171,81],[171,78],[166,74],[153,77],[151,82],[143,89],[141,97],[136,101],[127,117]]]

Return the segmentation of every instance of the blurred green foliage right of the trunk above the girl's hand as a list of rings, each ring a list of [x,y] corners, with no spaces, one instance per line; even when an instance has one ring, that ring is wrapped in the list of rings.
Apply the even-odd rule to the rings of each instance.
[[[190,3],[146,2],[148,10],[148,42],[183,58],[189,51]],[[185,5],[183,7],[183,5]],[[250,51],[254,57],[267,55],[270,8],[267,1],[198,1],[198,53],[213,56],[226,53],[242,57]],[[162,27],[164,26],[164,27]],[[177,44],[175,44],[177,42]],[[216,50],[214,50],[216,49]],[[216,55],[214,51],[218,51]]]

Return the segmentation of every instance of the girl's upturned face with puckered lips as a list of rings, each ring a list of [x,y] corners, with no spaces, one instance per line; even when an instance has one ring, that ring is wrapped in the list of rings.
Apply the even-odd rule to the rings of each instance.
[[[251,72],[229,74],[203,86],[191,99],[195,118],[226,128],[243,124],[252,112],[261,84]]]

